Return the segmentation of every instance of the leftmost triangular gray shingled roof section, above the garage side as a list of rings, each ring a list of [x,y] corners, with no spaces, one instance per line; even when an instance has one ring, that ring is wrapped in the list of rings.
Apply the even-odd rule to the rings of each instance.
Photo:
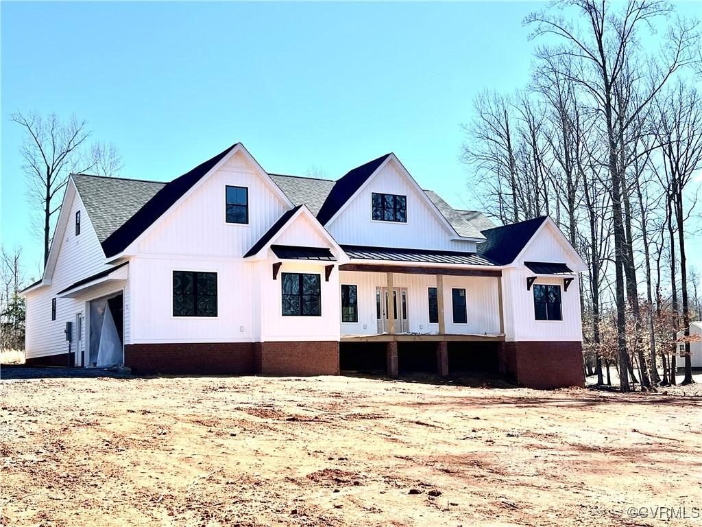
[[[166,183],[71,174],[100,243],[130,219]]]

